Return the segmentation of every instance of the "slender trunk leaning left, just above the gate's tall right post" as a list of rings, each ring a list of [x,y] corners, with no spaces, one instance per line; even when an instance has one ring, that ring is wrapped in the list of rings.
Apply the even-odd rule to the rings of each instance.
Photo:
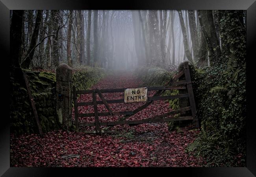
[[[184,24],[184,20],[183,20],[182,11],[181,10],[177,10],[177,11],[178,11],[179,18],[180,18],[180,26],[181,26],[181,30],[182,30],[182,34],[183,34],[183,44],[184,44],[184,50],[186,53],[186,57],[190,62],[193,62],[193,58],[192,58],[191,52],[189,51],[189,46],[188,46],[188,42],[187,42],[187,32],[186,32],[186,28],[185,28],[185,24]]]

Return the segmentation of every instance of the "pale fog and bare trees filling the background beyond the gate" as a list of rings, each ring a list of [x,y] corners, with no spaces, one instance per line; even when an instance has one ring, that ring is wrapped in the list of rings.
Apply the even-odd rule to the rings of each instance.
[[[22,58],[28,55],[35,26],[40,24],[37,44],[43,41],[31,59],[33,69],[54,69],[60,63],[116,70],[176,67],[189,56],[184,41],[190,61],[197,62],[195,49],[201,40],[197,11],[180,14],[183,19],[176,10],[26,10]],[[192,45],[191,31],[197,48]]]

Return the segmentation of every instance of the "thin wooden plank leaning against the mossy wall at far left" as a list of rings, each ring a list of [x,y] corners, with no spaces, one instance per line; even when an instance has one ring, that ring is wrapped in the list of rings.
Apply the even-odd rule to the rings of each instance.
[[[38,118],[37,109],[35,108],[35,102],[33,100],[32,92],[31,92],[31,89],[30,89],[29,80],[28,80],[28,76],[27,76],[26,72],[23,72],[23,77],[24,77],[24,80],[25,80],[25,83],[26,83],[26,87],[27,87],[27,91],[28,91],[28,97],[30,99],[30,103],[31,103],[31,106],[32,106],[32,109],[33,109],[33,112],[34,112],[35,121],[37,123],[37,128],[38,128],[38,131],[39,131],[39,135],[43,136],[43,130],[42,130],[39,118]]]

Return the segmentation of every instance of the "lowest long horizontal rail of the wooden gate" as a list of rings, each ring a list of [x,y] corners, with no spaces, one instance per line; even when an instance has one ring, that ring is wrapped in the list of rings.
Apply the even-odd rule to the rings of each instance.
[[[171,118],[158,118],[158,119],[143,119],[143,120],[124,120],[124,121],[113,121],[113,122],[100,122],[102,125],[130,125],[130,124],[146,124],[146,123],[158,123],[158,122],[170,122],[179,120],[193,120],[192,116],[183,117],[171,117]],[[95,126],[95,122],[80,123],[80,126]]]

